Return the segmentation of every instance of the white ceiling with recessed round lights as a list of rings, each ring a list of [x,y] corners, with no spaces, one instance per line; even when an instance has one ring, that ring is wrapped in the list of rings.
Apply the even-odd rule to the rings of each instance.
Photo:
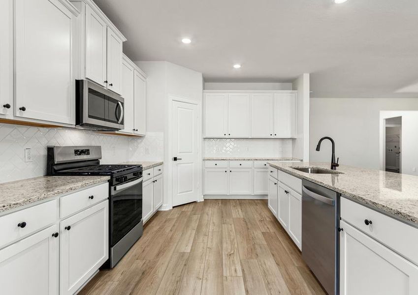
[[[418,0],[95,2],[131,59],[171,61],[205,82],[311,73],[312,97],[418,97]]]

